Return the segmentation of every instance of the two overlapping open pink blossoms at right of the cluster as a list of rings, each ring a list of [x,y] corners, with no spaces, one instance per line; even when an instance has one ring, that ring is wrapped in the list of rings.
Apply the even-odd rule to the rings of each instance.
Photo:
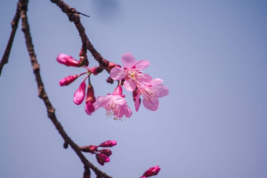
[[[143,74],[142,69],[147,68],[150,62],[145,60],[136,61],[131,53],[122,56],[124,68],[114,67],[110,71],[113,80],[123,80],[126,90],[133,92],[135,110],[140,107],[140,96],[143,97],[143,105],[146,109],[155,111],[159,108],[159,99],[167,96],[169,90],[161,84],[162,79],[152,79],[149,74]]]

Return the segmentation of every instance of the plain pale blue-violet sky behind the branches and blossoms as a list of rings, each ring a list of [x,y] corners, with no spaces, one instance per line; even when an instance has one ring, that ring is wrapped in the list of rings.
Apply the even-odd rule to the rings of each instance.
[[[11,32],[17,1],[2,3],[0,53]],[[170,92],[157,111],[142,105],[114,121],[103,108],[88,116],[73,103],[82,78],[58,81],[82,68],[60,65],[59,53],[78,58],[81,41],[73,23],[50,1],[29,1],[28,20],[46,92],[56,116],[79,145],[116,140],[113,177],[140,177],[159,165],[158,178],[267,177],[267,1],[66,1],[95,48],[117,64],[131,52],[151,66]],[[97,65],[88,54],[90,66]],[[112,93],[107,72],[92,76],[96,96]],[[82,177],[83,165],[47,118],[19,24],[9,63],[0,77],[1,177]],[[94,177],[94,176],[92,176]]]

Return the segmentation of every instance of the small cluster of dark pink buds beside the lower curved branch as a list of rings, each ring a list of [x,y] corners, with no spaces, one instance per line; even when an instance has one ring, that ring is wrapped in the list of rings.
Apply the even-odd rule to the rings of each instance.
[[[101,143],[98,146],[96,146],[96,145],[82,146],[82,147],[80,147],[80,151],[88,152],[91,154],[96,154],[97,162],[103,166],[105,163],[110,161],[109,156],[112,154],[112,152],[109,149],[99,150],[99,147],[112,147],[116,144],[117,144],[116,141],[108,140],[108,141]]]

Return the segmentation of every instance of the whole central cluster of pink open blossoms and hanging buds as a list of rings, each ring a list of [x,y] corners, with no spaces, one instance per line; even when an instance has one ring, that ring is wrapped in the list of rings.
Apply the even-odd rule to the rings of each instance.
[[[84,80],[74,93],[73,101],[75,104],[80,105],[85,99],[85,112],[91,115],[95,110],[103,107],[106,109],[107,116],[114,116],[115,120],[121,119],[123,116],[127,118],[132,115],[132,110],[127,105],[125,95],[123,95],[123,88],[132,92],[135,110],[138,111],[142,103],[146,109],[155,111],[159,108],[159,98],[167,96],[169,90],[162,84],[163,80],[160,78],[153,79],[149,74],[145,74],[142,70],[150,65],[149,61],[140,60],[136,61],[131,53],[124,53],[122,56],[123,68],[120,65],[112,65],[110,67],[110,78],[118,81],[118,85],[112,94],[106,96],[95,97],[94,89],[90,82],[90,75],[99,73],[99,67],[86,67],[82,66],[73,57],[60,54],[56,58],[57,62],[66,66],[83,67],[86,72],[79,75],[69,75],[60,80],[61,86],[67,86],[75,81],[81,75],[86,74]],[[113,64],[113,63],[112,63]],[[88,78],[88,86],[86,91],[85,80]],[[110,80],[110,79],[109,79]]]

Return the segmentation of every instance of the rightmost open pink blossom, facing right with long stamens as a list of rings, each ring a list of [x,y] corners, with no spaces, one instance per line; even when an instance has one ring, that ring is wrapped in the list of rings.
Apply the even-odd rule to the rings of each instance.
[[[138,111],[140,107],[140,95],[143,96],[143,105],[146,109],[155,111],[159,108],[159,99],[169,94],[169,89],[161,84],[162,79],[152,77],[148,74],[144,74],[145,80],[141,81],[137,85],[137,95],[135,98],[135,110]]]

